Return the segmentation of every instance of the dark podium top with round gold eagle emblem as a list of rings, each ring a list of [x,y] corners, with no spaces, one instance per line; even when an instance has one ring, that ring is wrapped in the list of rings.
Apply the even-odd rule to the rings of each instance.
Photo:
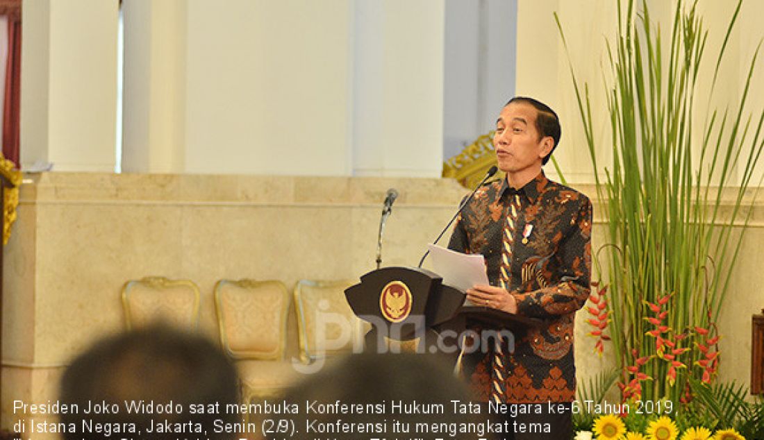
[[[484,306],[466,306],[467,295],[442,283],[442,277],[416,267],[383,267],[361,277],[361,283],[348,287],[345,297],[358,316],[372,325],[367,333],[367,350],[373,348],[380,333],[397,341],[426,338],[429,351],[438,335],[446,330],[461,334],[468,322],[484,328],[507,329],[520,334],[543,324],[541,319],[512,315]]]

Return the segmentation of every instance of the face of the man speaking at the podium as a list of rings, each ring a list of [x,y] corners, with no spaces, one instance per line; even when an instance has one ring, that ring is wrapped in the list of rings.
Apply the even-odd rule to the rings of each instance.
[[[530,168],[541,170],[543,158],[552,150],[552,137],[539,139],[536,116],[539,112],[526,102],[512,102],[501,110],[496,121],[494,148],[499,169],[520,173]]]

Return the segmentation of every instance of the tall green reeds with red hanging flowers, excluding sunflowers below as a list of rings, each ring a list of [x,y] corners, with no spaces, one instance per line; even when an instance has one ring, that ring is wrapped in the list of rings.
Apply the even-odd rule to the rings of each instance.
[[[707,351],[693,341],[708,329],[716,332],[742,243],[736,225],[749,221],[743,196],[764,148],[764,113],[750,115],[746,107],[758,48],[742,95],[722,110],[710,109],[700,133],[693,117],[700,99],[711,105],[741,4],[715,60],[708,60],[709,35],[697,2],[678,2],[669,40],[644,0],[639,11],[633,0],[625,9],[618,3],[618,34],[607,43],[611,77],[604,80],[612,166],[601,168],[594,137],[594,120],[604,115],[593,110],[589,84],[578,81],[568,56],[607,216],[608,329],[623,383],[639,380],[645,400],[678,402],[688,391],[688,377],[705,373],[707,380],[715,370],[695,363]],[[555,20],[567,50],[556,14]],[[698,75],[709,61],[715,61],[711,92],[701,98]],[[659,323],[658,306],[667,312]]]

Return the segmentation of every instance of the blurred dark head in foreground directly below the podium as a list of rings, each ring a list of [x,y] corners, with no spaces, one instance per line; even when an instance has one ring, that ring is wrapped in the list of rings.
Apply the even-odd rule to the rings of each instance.
[[[293,438],[501,438],[487,425],[502,427],[434,354],[354,354],[296,384],[283,401],[299,411]]]

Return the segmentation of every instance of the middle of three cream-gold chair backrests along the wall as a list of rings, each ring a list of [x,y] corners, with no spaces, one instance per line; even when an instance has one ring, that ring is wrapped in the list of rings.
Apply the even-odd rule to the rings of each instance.
[[[223,349],[235,359],[283,358],[289,301],[280,281],[219,280],[215,312]]]

